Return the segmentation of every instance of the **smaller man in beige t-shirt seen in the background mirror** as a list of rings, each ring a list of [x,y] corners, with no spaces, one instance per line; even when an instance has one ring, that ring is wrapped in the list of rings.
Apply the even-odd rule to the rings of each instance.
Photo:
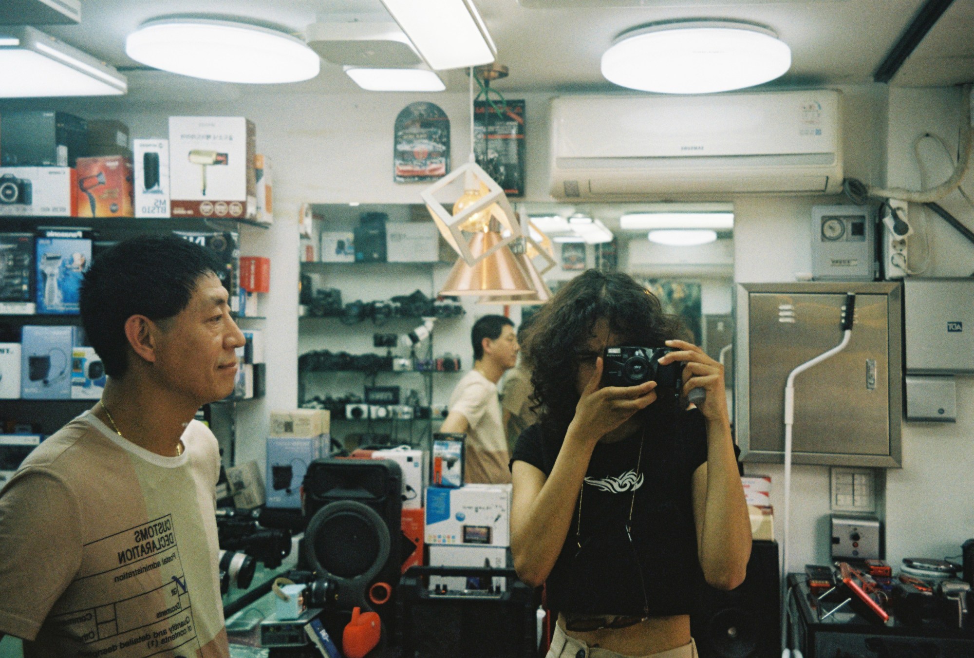
[[[450,413],[441,432],[466,433],[464,481],[467,484],[507,484],[510,456],[497,383],[517,363],[514,323],[504,315],[484,315],[470,330],[473,370],[450,396]]]

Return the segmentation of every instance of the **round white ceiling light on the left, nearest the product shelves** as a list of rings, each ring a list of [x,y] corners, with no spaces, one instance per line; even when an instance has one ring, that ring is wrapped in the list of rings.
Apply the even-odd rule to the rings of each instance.
[[[256,85],[309,80],[321,65],[315,51],[289,34],[208,18],[150,20],[129,35],[125,50],[170,73]]]

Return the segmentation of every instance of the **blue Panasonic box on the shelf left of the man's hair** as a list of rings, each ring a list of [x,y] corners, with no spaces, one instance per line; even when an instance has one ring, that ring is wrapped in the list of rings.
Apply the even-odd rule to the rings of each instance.
[[[81,281],[92,263],[91,232],[41,229],[35,244],[37,312],[77,315]]]

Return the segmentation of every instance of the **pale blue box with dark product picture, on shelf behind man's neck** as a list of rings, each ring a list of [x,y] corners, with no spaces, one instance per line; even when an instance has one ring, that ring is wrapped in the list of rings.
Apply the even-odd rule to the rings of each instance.
[[[24,325],[20,343],[20,397],[70,400],[71,358],[81,327]]]

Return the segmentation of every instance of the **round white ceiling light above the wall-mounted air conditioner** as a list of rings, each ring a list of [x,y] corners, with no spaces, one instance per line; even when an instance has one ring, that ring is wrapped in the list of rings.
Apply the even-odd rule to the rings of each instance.
[[[767,27],[680,20],[638,27],[602,55],[602,75],[620,87],[711,93],[754,87],[783,75],[791,49]]]

